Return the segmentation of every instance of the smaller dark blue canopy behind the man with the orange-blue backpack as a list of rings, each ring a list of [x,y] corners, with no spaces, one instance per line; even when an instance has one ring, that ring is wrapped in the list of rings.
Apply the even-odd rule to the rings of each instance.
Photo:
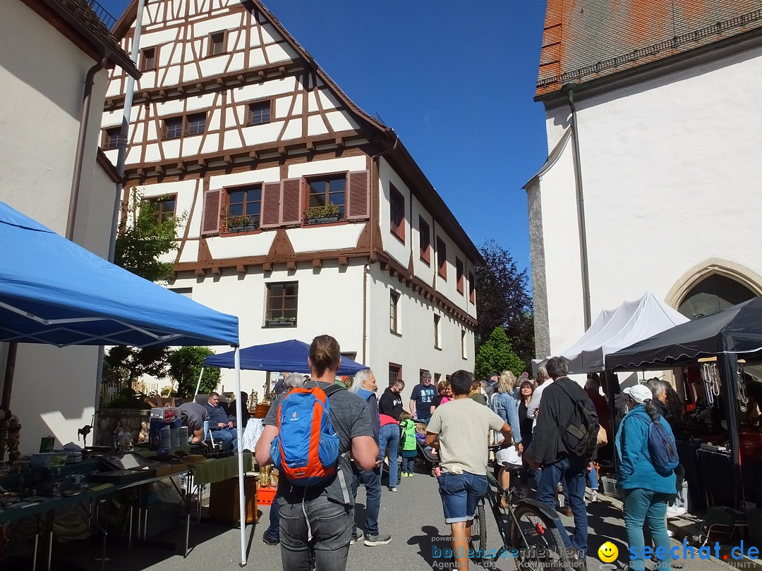
[[[309,365],[307,364],[309,345],[296,339],[245,347],[245,349],[240,350],[240,355],[241,368],[249,371],[309,373]],[[234,357],[233,351],[210,355],[203,359],[203,365],[205,367],[233,368],[235,366]],[[364,368],[370,367],[354,362],[347,357],[341,357],[341,364],[337,373],[339,375],[354,375]]]

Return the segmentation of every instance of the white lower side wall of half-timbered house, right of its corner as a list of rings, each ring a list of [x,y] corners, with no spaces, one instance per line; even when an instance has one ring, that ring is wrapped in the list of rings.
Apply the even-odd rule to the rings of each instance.
[[[402,395],[407,408],[421,369],[427,369],[432,374],[441,373],[442,378],[460,368],[473,371],[472,332],[466,332],[468,350],[467,358],[463,359],[460,351],[463,327],[460,324],[432,307],[418,294],[411,295],[398,279],[390,277],[388,272],[381,272],[378,266],[371,266],[368,282],[370,345],[367,364],[379,378],[379,388],[386,388],[389,362],[402,365],[402,378],[405,380]],[[401,335],[389,331],[389,295],[392,290],[400,293],[398,316]],[[441,349],[434,348],[434,313],[441,316]]]

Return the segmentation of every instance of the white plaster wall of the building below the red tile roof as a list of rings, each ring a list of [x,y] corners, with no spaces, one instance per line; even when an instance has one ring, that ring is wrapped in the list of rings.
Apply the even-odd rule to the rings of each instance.
[[[647,290],[664,298],[712,257],[762,273],[760,86],[757,48],[578,101],[593,317]],[[549,144],[566,113],[548,113]],[[571,145],[541,185],[558,352],[584,328]]]

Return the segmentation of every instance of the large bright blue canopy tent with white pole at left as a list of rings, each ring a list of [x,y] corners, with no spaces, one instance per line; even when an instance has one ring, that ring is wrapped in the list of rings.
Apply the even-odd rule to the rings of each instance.
[[[59,347],[239,345],[238,317],[114,266],[2,202],[0,252],[0,341]],[[237,364],[238,349],[234,357]],[[6,386],[10,382],[5,379]],[[237,369],[239,389],[240,383]],[[243,514],[242,455],[239,490]],[[242,517],[242,565],[245,521]]]

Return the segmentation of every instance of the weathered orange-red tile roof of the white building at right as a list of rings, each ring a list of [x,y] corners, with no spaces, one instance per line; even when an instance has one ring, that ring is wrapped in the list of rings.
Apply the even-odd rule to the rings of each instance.
[[[762,0],[548,0],[536,97],[762,28]]]

